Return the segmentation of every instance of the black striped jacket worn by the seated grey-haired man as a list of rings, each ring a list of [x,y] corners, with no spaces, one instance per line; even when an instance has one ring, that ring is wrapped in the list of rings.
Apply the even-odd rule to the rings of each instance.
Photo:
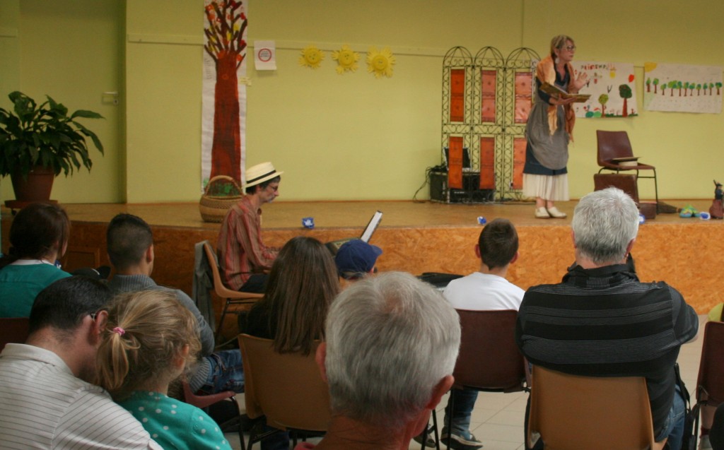
[[[515,339],[529,362],[544,368],[644,376],[657,436],[673,402],[679,348],[698,328],[694,309],[662,281],[641,283],[625,264],[573,266],[562,283],[526,292]]]

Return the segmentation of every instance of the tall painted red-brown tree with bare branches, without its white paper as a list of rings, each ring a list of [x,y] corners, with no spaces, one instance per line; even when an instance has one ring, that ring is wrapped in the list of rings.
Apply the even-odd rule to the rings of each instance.
[[[214,88],[214,140],[211,174],[241,182],[241,130],[237,69],[246,56],[246,15],[242,2],[214,0],[206,6],[206,44],[203,49],[216,65]]]

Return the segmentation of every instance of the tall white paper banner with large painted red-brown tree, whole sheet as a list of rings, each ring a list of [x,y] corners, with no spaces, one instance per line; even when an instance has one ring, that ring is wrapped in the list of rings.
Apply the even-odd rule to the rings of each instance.
[[[246,11],[248,0],[205,0],[202,188],[219,175],[242,182],[245,159]]]

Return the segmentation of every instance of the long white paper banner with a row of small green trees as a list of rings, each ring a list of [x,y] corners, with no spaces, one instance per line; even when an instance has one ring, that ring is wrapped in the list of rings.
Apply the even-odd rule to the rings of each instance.
[[[647,111],[722,111],[722,68],[684,64],[644,64]]]

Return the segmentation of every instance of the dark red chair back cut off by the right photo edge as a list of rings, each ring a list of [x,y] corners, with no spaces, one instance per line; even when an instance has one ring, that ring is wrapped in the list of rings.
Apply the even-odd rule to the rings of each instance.
[[[717,407],[724,402],[724,322],[704,326],[702,359],[696,379],[696,402]]]

